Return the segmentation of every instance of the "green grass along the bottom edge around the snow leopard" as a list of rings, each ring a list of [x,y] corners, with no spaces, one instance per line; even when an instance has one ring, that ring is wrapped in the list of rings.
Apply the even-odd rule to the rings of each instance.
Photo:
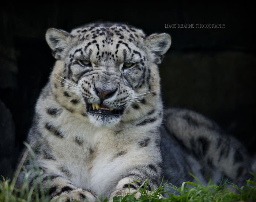
[[[191,174],[192,175],[192,174]],[[9,179],[0,180],[0,202],[29,202],[39,201],[38,190],[33,187],[28,189],[26,179],[21,189],[17,189]],[[193,175],[192,175],[193,176]],[[195,179],[197,179],[194,176]],[[143,185],[147,184],[147,180],[144,181]],[[40,186],[39,186],[40,187]],[[144,186],[146,187],[146,186]],[[175,193],[168,193],[167,187],[173,189]],[[39,188],[40,189],[40,188]],[[39,191],[40,192],[40,191]],[[135,198],[133,194],[126,195],[124,197],[114,197],[114,202],[200,202],[200,201],[216,201],[216,202],[228,202],[228,201],[248,201],[256,200],[256,176],[252,174],[252,179],[247,180],[245,186],[238,187],[233,183],[224,182],[220,185],[215,185],[211,181],[207,186],[203,186],[199,181],[195,182],[184,182],[181,187],[176,187],[172,184],[162,184],[151,193],[141,186],[136,192],[140,192],[140,198]],[[169,195],[169,198],[162,197],[163,194]],[[47,196],[42,196],[41,201],[49,201]],[[108,199],[103,200],[107,202]]]

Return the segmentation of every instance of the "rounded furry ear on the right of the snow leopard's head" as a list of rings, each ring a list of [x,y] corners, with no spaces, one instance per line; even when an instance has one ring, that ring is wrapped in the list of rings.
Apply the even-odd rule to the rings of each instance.
[[[154,62],[159,65],[163,60],[163,55],[170,48],[172,40],[171,36],[166,33],[162,34],[151,34],[146,38],[146,43],[151,50],[151,53],[154,54]]]

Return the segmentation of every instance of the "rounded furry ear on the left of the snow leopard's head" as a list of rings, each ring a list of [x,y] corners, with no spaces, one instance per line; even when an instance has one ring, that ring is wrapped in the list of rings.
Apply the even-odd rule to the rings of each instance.
[[[63,58],[63,50],[67,47],[70,34],[64,30],[50,28],[46,31],[46,42],[52,49],[55,59]]]

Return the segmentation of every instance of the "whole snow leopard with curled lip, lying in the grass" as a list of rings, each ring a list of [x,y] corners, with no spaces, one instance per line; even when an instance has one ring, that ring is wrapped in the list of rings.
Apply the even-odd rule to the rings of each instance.
[[[52,201],[112,201],[143,186],[153,191],[162,178],[193,181],[189,172],[203,183],[246,179],[251,164],[239,141],[199,113],[163,107],[158,68],[169,34],[101,22],[50,28],[46,42],[56,61],[18,186],[29,171],[29,186],[42,183]]]

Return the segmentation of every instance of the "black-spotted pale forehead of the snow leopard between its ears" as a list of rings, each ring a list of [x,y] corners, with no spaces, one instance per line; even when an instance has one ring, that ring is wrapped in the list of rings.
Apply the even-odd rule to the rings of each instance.
[[[123,61],[128,54],[132,58],[135,55],[138,61],[142,58],[140,50],[144,49],[145,34],[142,30],[135,27],[123,24],[112,24],[110,26],[91,24],[72,30],[71,35],[78,38],[78,44],[82,45],[79,50],[83,49],[86,52],[86,50],[90,49],[91,45],[95,45],[97,48],[95,58],[90,59],[94,59],[95,61],[93,62],[97,61],[99,65],[101,62],[108,62],[111,65],[113,65],[112,63],[117,64]],[[118,51],[121,44],[127,48],[128,52]],[[115,48],[113,49],[113,47]],[[76,52],[77,50],[75,50]]]

